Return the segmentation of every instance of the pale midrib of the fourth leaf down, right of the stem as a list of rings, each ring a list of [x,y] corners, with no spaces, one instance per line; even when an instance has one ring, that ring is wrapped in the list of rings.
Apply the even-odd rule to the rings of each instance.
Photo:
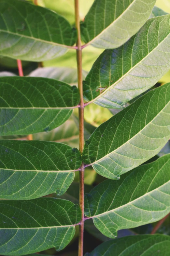
[[[167,182],[165,182],[163,185],[157,187],[156,189],[153,189],[153,190],[149,191],[149,192],[146,193],[145,195],[139,196],[138,198],[132,200],[131,202],[128,202],[127,204],[121,205],[121,206],[119,206],[119,207],[117,207],[117,208],[115,208],[115,209],[112,209],[112,210],[107,211],[107,212],[104,212],[104,213],[100,213],[100,214],[97,214],[97,215],[94,215],[94,216],[90,216],[89,219],[91,219],[91,218],[96,218],[96,217],[100,217],[100,216],[103,216],[103,215],[105,215],[105,214],[108,214],[108,213],[111,213],[111,212],[115,212],[116,210],[118,210],[118,209],[120,209],[120,208],[126,207],[127,205],[130,205],[130,204],[134,203],[135,201],[139,200],[140,198],[142,198],[142,197],[144,197],[144,196],[147,196],[147,195],[153,193],[154,191],[159,190],[159,188],[165,186],[165,185],[168,184],[168,183],[170,183],[170,180],[168,180]],[[159,190],[159,191],[160,191],[160,190]],[[163,191],[160,191],[160,192],[161,192],[161,193],[164,193],[164,194],[167,194],[167,193],[165,193],[165,192],[163,192]],[[167,195],[168,195],[168,194],[167,194]],[[133,205],[133,206],[134,206],[134,205]],[[168,208],[168,207],[166,207],[166,208]],[[140,209],[140,208],[139,208],[139,209]],[[144,210],[144,209],[140,209],[140,210],[147,211],[147,210]],[[160,211],[160,210],[159,210],[159,211]],[[163,210],[163,211],[164,211],[164,210]],[[158,211],[155,211],[155,212],[158,212]],[[86,216],[87,216],[87,215],[86,215]]]

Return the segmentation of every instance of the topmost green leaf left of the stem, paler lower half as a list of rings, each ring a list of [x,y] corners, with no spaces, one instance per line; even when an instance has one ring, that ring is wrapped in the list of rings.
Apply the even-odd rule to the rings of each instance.
[[[63,55],[76,42],[76,30],[64,17],[49,9],[24,1],[1,0],[0,14],[3,56],[50,60]]]

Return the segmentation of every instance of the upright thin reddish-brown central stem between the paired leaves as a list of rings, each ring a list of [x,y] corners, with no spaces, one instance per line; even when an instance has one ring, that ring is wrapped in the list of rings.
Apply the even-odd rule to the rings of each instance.
[[[84,101],[83,101],[83,79],[82,79],[82,49],[78,0],[75,0],[75,20],[78,34],[77,40],[77,69],[78,69],[78,90],[80,93],[79,115],[79,150],[82,154],[84,148]],[[79,225],[79,242],[78,256],[83,256],[83,232],[84,232],[84,163],[82,163],[79,171],[80,187],[79,187],[79,204],[81,208],[82,218]]]

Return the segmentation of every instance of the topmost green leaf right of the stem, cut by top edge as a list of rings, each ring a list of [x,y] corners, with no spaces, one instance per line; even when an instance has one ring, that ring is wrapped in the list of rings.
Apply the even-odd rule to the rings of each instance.
[[[95,0],[81,24],[85,43],[117,48],[144,25],[156,0]]]

